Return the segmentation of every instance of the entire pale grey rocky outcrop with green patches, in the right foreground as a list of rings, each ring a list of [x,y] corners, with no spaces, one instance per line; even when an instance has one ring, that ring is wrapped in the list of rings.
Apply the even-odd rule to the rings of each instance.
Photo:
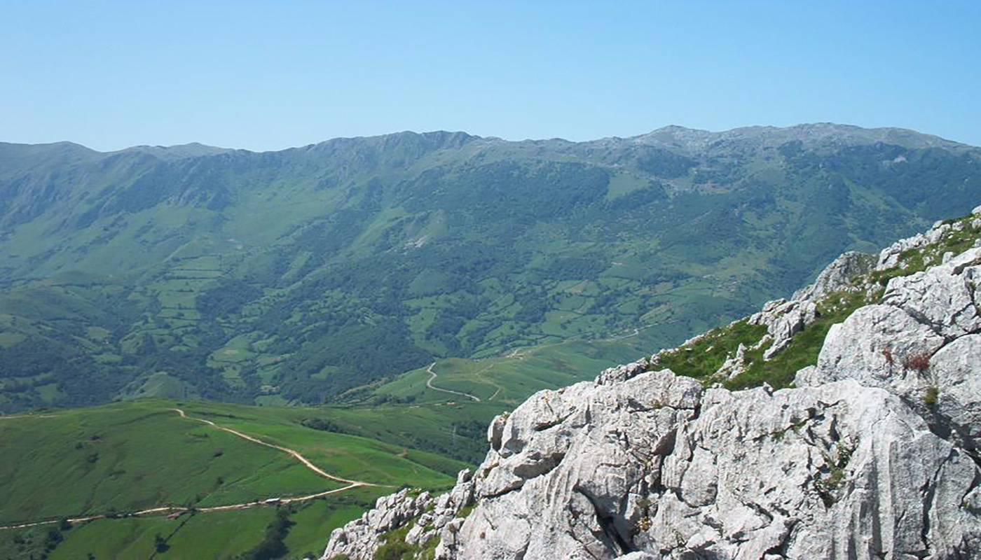
[[[451,491],[381,498],[323,558],[979,558],[979,232],[981,207],[536,393]]]

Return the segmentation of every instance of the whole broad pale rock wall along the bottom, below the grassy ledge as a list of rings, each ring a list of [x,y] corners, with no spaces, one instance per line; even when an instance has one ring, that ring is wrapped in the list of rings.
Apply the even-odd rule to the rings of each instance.
[[[477,507],[439,558],[981,550],[970,456],[897,395],[853,380],[702,393],[668,371],[645,373],[539,393],[504,432],[474,477]]]

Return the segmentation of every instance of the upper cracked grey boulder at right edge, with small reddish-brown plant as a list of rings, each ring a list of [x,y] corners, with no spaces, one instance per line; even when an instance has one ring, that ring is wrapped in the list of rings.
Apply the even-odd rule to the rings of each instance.
[[[976,279],[981,279],[977,248],[923,273],[890,280],[883,305],[862,307],[831,328],[817,367],[802,370],[797,384],[853,379],[887,388],[934,432],[976,450],[981,442]]]

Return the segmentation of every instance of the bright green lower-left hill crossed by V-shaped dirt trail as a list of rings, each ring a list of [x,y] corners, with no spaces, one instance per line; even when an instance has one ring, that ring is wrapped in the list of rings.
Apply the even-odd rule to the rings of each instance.
[[[326,479],[282,449],[200,420],[295,450],[338,478],[376,485]],[[0,417],[0,485],[7,489],[0,495],[0,558],[148,558],[154,551],[164,551],[162,558],[232,558],[274,545],[273,557],[298,558],[323,549],[333,528],[378,496],[403,484],[446,488],[464,466],[338,433],[340,424],[330,410],[164,400]],[[284,500],[222,509],[270,498]],[[99,519],[57,523],[93,516]],[[44,520],[56,523],[6,529]]]

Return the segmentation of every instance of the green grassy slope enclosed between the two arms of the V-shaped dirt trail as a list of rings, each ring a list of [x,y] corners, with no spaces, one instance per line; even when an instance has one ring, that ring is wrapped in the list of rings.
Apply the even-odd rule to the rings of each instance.
[[[10,488],[0,497],[6,523],[339,487],[282,452],[181,419],[159,404],[58,414],[0,421],[0,484]]]

